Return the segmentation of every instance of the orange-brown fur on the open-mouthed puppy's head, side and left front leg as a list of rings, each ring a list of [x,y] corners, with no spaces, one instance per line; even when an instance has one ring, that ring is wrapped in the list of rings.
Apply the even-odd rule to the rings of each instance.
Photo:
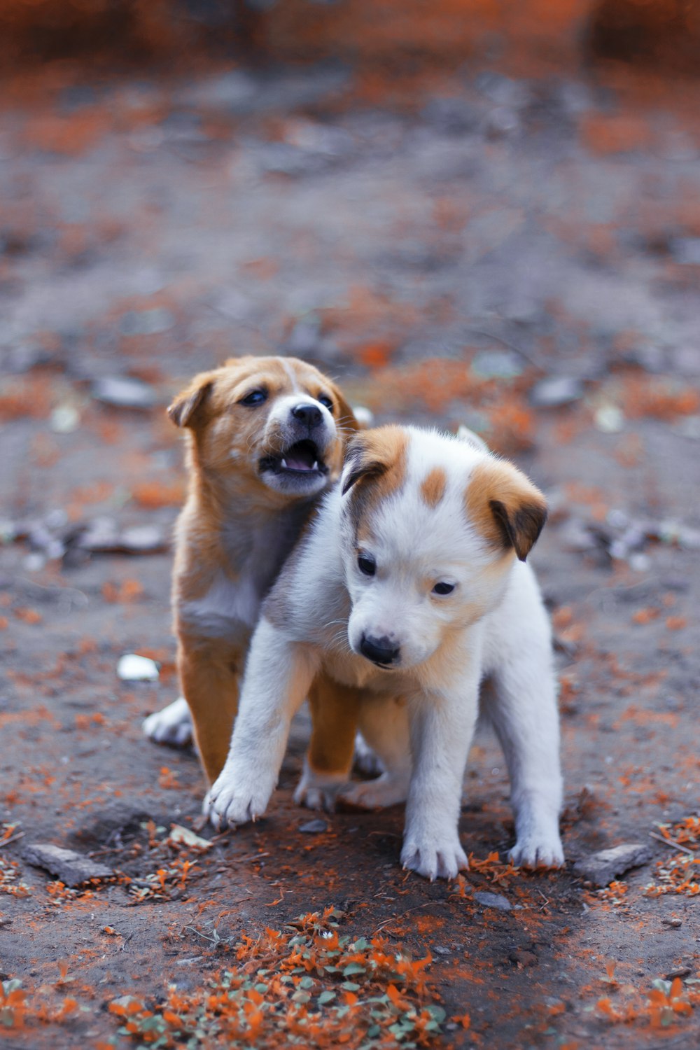
[[[216,580],[235,583],[245,570],[247,547],[241,541],[246,538],[232,536],[230,529],[227,532],[232,506],[236,510],[236,528],[249,532],[279,516],[289,516],[292,529],[298,529],[313,509],[311,501],[269,488],[256,469],[259,456],[281,450],[281,436],[273,432],[262,442],[262,432],[275,398],[292,393],[288,370],[293,372],[301,393],[314,398],[325,395],[334,402],[339,439],[325,454],[333,480],[341,469],[344,435],[356,430],[357,422],[335,383],[303,361],[274,357],[232,359],[220,369],[195,376],[168,408],[173,422],[187,428],[190,468],[189,495],[176,527],[172,584],[178,670],[210,782],[226,761],[250,631],[241,627],[235,637],[222,638],[198,634],[192,623],[186,622],[182,609],[201,600]],[[269,392],[264,404],[251,411],[239,403],[258,387]],[[240,555],[236,552],[237,542]],[[274,564],[274,552],[271,562]]]

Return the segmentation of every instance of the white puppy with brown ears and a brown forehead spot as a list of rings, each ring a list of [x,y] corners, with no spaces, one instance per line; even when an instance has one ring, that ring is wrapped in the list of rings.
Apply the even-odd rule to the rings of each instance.
[[[323,668],[362,690],[360,729],[385,770],[348,797],[407,798],[404,867],[429,879],[467,867],[458,820],[480,691],[510,772],[511,857],[563,863],[550,626],[525,564],[546,517],[534,485],[473,442],[398,426],[355,437],[263,606],[210,819],[264,813]]]

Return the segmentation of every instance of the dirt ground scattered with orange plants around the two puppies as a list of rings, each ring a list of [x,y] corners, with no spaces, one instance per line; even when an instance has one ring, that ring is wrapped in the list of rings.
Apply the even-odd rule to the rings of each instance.
[[[372,90],[325,62],[5,92],[0,1031],[14,1045],[700,1038],[698,88],[512,72],[496,55]],[[508,784],[487,737],[457,883],[402,872],[400,807],[304,830],[318,818],[292,801],[305,716],[264,820],[208,848],[169,839],[197,826],[204,784],[191,751],[141,731],[177,690],[167,546],[184,478],[164,408],[243,351],[313,360],[379,422],[466,423],[548,494],[533,563],[561,676],[565,870],[506,863]],[[141,382],[144,407],[107,403],[115,377]],[[145,526],[162,549],[90,553],[98,520],[103,534]],[[157,681],[119,679],[134,652]],[[36,842],[116,877],[70,890],[24,858]],[[625,842],[651,859],[609,887],[574,872]],[[319,963],[334,922],[342,972]],[[216,1000],[227,981],[233,1020]]]

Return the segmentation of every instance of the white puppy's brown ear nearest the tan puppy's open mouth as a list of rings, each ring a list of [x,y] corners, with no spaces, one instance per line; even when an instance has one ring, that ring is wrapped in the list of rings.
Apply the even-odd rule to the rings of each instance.
[[[407,452],[408,434],[401,426],[380,426],[352,439],[342,495],[353,490],[349,512],[356,537],[370,508],[402,487]]]

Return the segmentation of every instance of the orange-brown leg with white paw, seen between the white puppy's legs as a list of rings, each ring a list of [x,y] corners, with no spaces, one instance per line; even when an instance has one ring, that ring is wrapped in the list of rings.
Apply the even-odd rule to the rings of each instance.
[[[322,671],[309,691],[312,734],[294,801],[310,810],[335,808],[338,789],[353,763],[361,692],[333,681]]]

